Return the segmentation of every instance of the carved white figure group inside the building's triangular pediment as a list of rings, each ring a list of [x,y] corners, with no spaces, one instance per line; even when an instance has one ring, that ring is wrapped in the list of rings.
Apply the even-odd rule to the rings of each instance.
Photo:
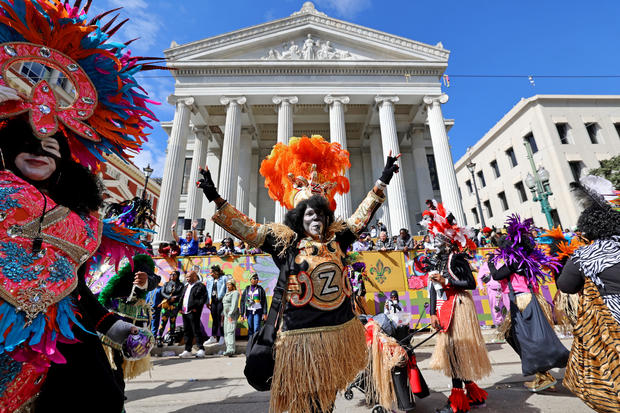
[[[314,40],[308,34],[303,44],[291,40],[284,43],[280,50],[269,49],[263,60],[354,60],[355,57],[347,50],[336,49],[329,40]]]

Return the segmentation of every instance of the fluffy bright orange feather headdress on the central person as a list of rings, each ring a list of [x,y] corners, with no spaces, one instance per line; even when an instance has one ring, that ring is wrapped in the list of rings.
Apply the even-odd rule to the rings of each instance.
[[[287,209],[320,195],[329,200],[334,210],[334,196],[349,192],[349,180],[344,173],[350,167],[349,152],[338,143],[314,135],[291,138],[288,145],[275,145],[261,163],[260,173],[265,177],[271,199]]]

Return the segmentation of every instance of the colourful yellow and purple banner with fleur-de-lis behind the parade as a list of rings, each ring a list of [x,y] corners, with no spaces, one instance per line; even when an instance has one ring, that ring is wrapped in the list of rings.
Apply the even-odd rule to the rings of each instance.
[[[486,255],[493,251],[493,248],[480,248],[476,251],[470,261],[474,275],[478,268],[486,260]],[[386,296],[395,290],[398,292],[403,311],[412,314],[412,327],[420,320],[420,325],[430,323],[428,315],[428,275],[424,271],[424,250],[414,250],[408,253],[402,251],[367,251],[358,256],[358,261],[366,264],[366,308],[374,313],[383,311]],[[162,284],[168,281],[170,273],[174,270],[181,272],[183,276],[189,270],[195,270],[204,282],[209,275],[213,265],[219,265],[226,276],[232,277],[237,283],[240,293],[249,285],[250,276],[254,272],[258,273],[260,285],[267,293],[267,301],[271,303],[273,289],[276,286],[279,269],[273,263],[269,255],[230,255],[230,256],[201,256],[201,257],[178,257],[156,258],[156,273],[161,276]],[[106,269],[109,274],[110,269]],[[105,278],[105,277],[104,277]],[[478,320],[480,325],[492,326],[491,308],[489,297],[487,296],[486,286],[480,285],[477,280],[477,288],[472,291]],[[544,298],[553,302],[556,294],[554,283],[546,283],[541,288]],[[211,321],[209,310],[205,307],[202,315],[203,325],[206,327],[207,334],[211,334]],[[181,318],[179,317],[179,322]],[[247,324],[239,321],[240,335],[247,334]]]

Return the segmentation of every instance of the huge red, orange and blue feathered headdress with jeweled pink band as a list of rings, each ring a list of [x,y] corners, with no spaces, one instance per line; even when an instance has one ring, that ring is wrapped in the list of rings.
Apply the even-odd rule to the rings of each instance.
[[[0,1],[0,117],[28,114],[40,139],[63,132],[73,157],[94,168],[146,141],[155,102],[134,76],[158,67],[131,56],[130,42],[108,41],[126,22],[102,22],[115,10],[89,20],[91,0],[81,4]]]

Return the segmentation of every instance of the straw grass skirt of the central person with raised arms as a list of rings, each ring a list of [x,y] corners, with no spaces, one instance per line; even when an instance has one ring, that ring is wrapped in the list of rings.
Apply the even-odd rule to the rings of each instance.
[[[333,327],[281,332],[275,350],[272,413],[329,411],[338,391],[368,362],[364,326],[357,318]]]

